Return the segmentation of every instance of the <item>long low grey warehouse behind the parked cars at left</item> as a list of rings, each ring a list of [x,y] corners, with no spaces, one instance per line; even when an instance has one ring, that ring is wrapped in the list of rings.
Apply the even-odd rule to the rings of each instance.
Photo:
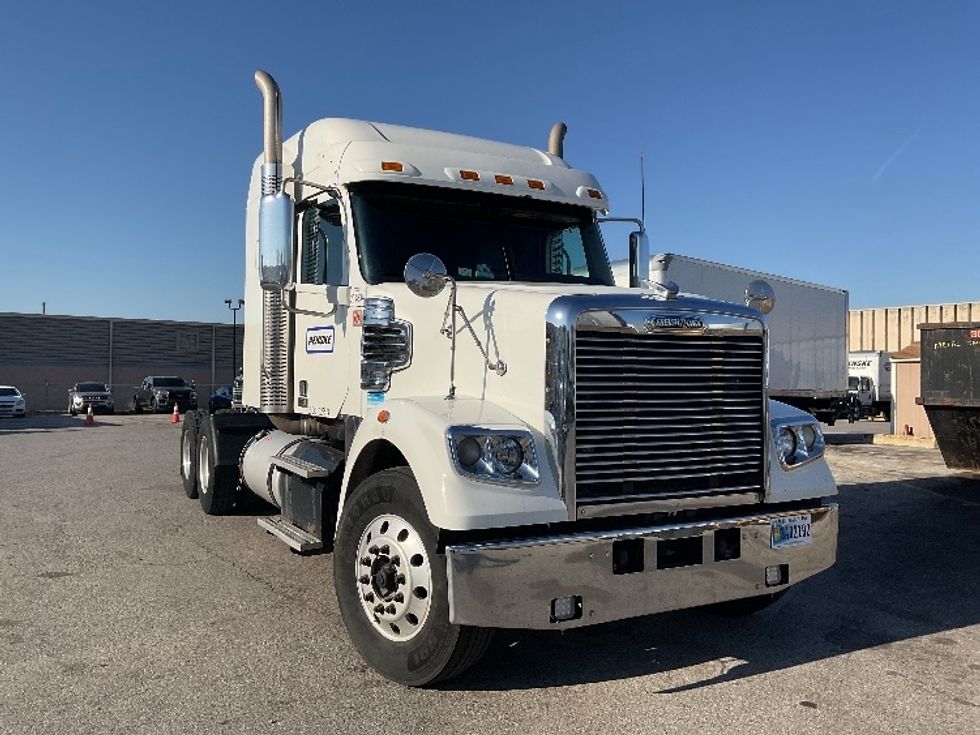
[[[204,407],[232,382],[243,334],[230,324],[0,313],[0,384],[20,388],[31,411],[64,411],[76,382],[104,382],[127,410],[147,375],[178,375],[194,381]]]

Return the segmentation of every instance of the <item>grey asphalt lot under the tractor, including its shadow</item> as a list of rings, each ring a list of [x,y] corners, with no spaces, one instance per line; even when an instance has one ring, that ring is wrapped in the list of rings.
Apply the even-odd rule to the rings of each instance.
[[[750,618],[503,632],[439,689],[368,669],[331,559],[205,516],[168,416],[0,420],[0,733],[969,733],[980,482],[831,446],[838,563]]]

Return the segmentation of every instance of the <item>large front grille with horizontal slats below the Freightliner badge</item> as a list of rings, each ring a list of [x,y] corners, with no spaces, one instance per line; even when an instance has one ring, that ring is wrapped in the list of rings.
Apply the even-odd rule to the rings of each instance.
[[[764,341],[757,334],[579,330],[577,501],[764,486]]]

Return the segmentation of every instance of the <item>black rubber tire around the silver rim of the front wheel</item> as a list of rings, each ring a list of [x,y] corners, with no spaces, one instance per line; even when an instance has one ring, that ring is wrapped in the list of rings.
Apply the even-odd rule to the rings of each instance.
[[[425,619],[407,640],[391,640],[380,632],[362,604],[360,544],[373,522],[380,516],[395,516],[416,531],[430,573],[431,589],[419,599],[429,597]],[[394,524],[393,524],[394,525]],[[401,539],[400,539],[401,540]],[[409,543],[412,539],[409,537]],[[473,628],[449,622],[449,585],[445,558],[437,554],[438,531],[429,523],[415,477],[407,467],[371,475],[350,494],[343,509],[334,544],[334,592],[347,632],[362,658],[376,671],[408,686],[426,686],[463,673],[484,654],[493,635],[489,628]],[[385,557],[376,557],[375,564]],[[413,557],[414,559],[414,557]],[[415,566],[414,561],[410,563]],[[374,574],[374,565],[371,572]],[[367,575],[365,575],[367,576]],[[372,578],[372,585],[373,585]],[[403,584],[409,594],[418,589],[413,582]],[[396,588],[396,591],[401,589]],[[372,587],[374,591],[380,591]],[[387,598],[397,601],[397,594]],[[401,625],[409,618],[398,620]],[[391,626],[392,630],[398,628]],[[407,628],[411,631],[411,628]]]

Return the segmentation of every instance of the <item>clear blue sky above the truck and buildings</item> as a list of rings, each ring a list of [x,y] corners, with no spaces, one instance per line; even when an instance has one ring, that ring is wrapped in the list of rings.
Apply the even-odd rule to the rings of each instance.
[[[228,320],[256,67],[287,135],[346,116],[544,147],[562,119],[613,215],[638,216],[644,153],[653,252],[852,307],[980,300],[977,2],[40,7],[0,16],[0,311]]]

